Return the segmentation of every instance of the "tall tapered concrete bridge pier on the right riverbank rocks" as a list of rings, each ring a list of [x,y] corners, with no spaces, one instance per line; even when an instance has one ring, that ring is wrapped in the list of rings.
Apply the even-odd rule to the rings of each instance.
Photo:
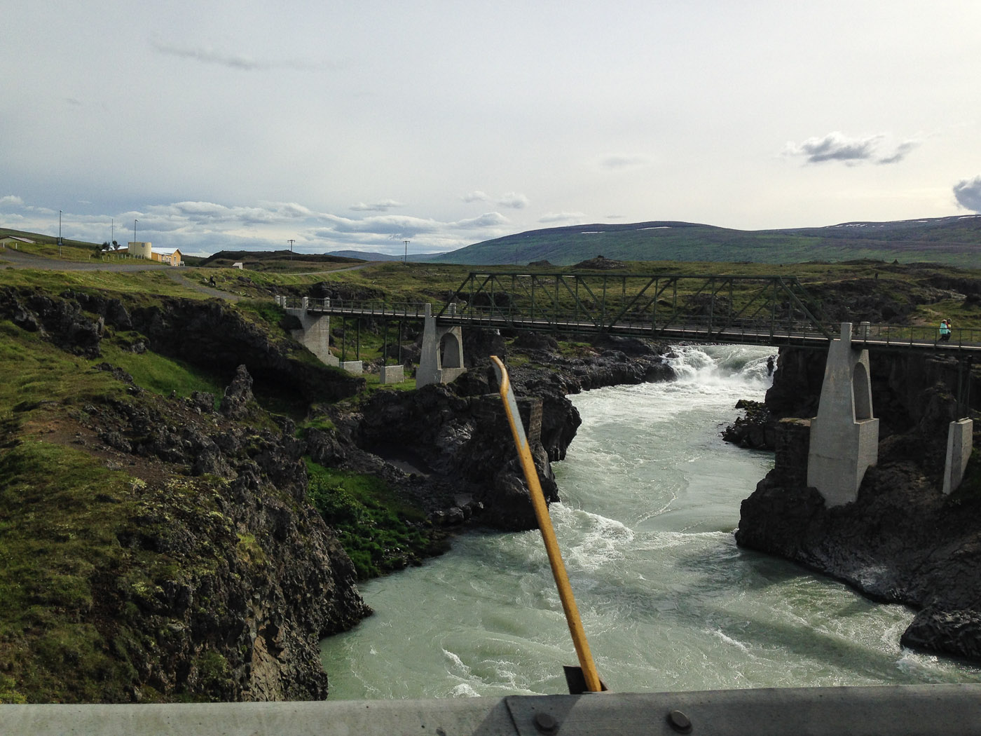
[[[828,348],[817,416],[811,420],[807,485],[828,506],[851,503],[879,459],[879,420],[872,416],[868,350],[852,348],[852,323]]]

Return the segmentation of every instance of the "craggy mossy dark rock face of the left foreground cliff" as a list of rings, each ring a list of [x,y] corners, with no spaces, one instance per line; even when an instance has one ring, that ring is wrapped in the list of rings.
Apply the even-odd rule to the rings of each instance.
[[[250,383],[239,372],[229,413],[254,409]],[[132,618],[120,619],[129,633],[112,645],[133,663],[129,697],[152,688],[165,699],[323,699],[319,640],[371,610],[347,554],[306,502],[307,447],[292,423],[282,434],[251,428],[202,412],[210,401],[146,395],[84,409],[107,447],[162,462],[178,479],[140,485],[119,532],[124,550],[166,560],[166,577],[123,585],[96,576],[97,607]],[[180,480],[181,467],[190,478]],[[195,485],[206,474],[224,480]]]

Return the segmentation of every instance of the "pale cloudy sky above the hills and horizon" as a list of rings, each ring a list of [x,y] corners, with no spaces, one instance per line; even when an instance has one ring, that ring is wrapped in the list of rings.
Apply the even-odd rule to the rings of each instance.
[[[398,255],[981,212],[977,0],[0,0],[0,19],[0,227]]]

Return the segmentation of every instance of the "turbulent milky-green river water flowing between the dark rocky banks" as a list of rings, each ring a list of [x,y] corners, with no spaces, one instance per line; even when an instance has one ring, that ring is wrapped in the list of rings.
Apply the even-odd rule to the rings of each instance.
[[[723,443],[761,398],[768,351],[679,348],[679,380],[573,396],[550,513],[596,666],[620,692],[978,682],[899,646],[912,613],[736,547],[739,504],[772,455]],[[325,640],[332,698],[566,692],[576,655],[541,535],[473,533],[362,587],[376,614]]]

